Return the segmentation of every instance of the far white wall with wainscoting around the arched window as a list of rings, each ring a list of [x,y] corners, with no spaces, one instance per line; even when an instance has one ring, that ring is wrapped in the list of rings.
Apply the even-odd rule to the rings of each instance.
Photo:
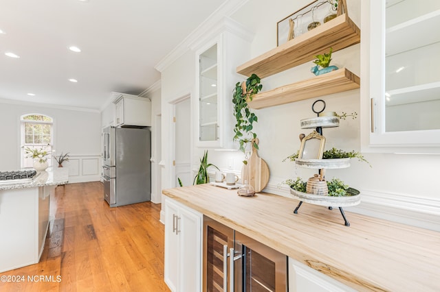
[[[20,169],[20,117],[39,113],[54,119],[54,150],[69,152],[69,182],[87,182],[100,177],[100,114],[92,110],[12,104],[0,101],[0,152],[8,153],[0,160],[0,171]],[[56,166],[56,165],[55,165]]]

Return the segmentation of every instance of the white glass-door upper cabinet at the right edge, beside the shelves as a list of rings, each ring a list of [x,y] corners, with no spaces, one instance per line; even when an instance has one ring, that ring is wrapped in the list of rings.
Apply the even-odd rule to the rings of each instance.
[[[437,152],[440,1],[370,0],[370,5],[370,146]]]

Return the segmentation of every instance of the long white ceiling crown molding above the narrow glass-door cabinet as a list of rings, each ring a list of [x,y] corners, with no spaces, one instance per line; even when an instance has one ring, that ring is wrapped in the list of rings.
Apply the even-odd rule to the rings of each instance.
[[[191,47],[196,47],[200,39],[206,40],[211,38],[213,34],[218,34],[219,24],[223,24],[225,16],[231,16],[241,8],[249,0],[228,0],[223,3],[217,10],[212,12],[208,18],[203,21],[193,32],[191,32],[183,41],[170,51],[159,63],[154,67],[157,71],[163,72],[170,64],[173,64],[179,57],[181,57]],[[229,19],[229,18],[228,18]],[[232,21],[232,19],[230,19]],[[235,22],[236,23],[236,22]],[[239,26],[238,23],[237,27]],[[216,28],[217,27],[217,28]],[[242,27],[243,29],[243,27]],[[241,29],[239,29],[240,31]],[[208,36],[209,35],[209,36]],[[248,34],[252,35],[252,34]]]

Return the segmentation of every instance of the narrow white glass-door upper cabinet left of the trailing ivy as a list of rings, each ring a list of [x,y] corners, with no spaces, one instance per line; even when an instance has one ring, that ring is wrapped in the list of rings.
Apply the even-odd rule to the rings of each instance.
[[[241,28],[227,19],[228,31],[205,42],[196,51],[196,86],[192,100],[197,113],[197,147],[234,147],[234,116],[232,90],[236,82],[245,78],[236,73],[236,66],[250,56],[250,40],[239,36]]]

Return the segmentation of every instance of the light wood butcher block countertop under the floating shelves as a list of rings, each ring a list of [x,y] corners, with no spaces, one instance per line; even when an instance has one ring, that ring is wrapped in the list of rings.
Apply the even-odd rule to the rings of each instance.
[[[358,291],[440,291],[439,232],[209,184],[162,193]]]

